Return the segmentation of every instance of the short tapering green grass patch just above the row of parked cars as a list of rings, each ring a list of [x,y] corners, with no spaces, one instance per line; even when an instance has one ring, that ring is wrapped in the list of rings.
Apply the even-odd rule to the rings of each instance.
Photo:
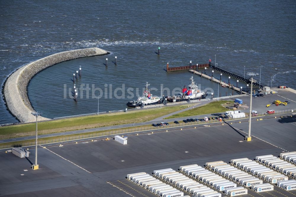
[[[229,103],[229,104],[226,104],[226,103]],[[227,111],[227,109],[225,107],[226,106],[233,106],[233,103],[234,103],[233,101],[214,101],[214,102],[211,102],[211,103],[206,104],[204,106],[196,107],[194,109],[189,109],[185,112],[174,114],[170,117],[166,117],[165,119],[225,112],[225,111]],[[221,104],[223,104],[223,106]],[[224,104],[226,104],[226,105],[224,105]]]

